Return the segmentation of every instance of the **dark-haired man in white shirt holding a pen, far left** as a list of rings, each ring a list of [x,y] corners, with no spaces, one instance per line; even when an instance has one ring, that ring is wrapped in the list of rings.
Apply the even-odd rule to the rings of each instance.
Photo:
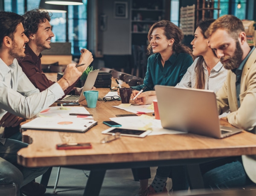
[[[16,60],[25,56],[25,45],[29,40],[24,34],[23,20],[18,14],[0,12],[0,118],[7,112],[32,118],[61,98],[64,90],[75,83],[88,66],[67,65],[58,82],[39,92]],[[14,118],[19,121],[19,117]],[[17,164],[17,151],[26,146],[20,141],[0,138],[0,184],[16,183],[27,196],[42,195],[45,187],[31,182],[48,168],[26,168]]]

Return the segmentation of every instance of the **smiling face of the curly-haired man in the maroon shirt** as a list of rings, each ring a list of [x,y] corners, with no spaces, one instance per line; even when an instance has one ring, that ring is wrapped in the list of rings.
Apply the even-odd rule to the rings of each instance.
[[[46,20],[45,23],[39,24],[38,31],[36,34],[33,34],[38,52],[42,52],[45,49],[51,49],[50,43],[52,37],[54,37],[51,29],[52,26],[49,21]]]

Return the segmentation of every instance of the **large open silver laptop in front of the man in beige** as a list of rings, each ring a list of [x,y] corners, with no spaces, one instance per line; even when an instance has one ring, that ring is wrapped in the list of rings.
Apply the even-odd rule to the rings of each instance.
[[[155,86],[163,128],[224,138],[242,129],[220,126],[213,91]]]

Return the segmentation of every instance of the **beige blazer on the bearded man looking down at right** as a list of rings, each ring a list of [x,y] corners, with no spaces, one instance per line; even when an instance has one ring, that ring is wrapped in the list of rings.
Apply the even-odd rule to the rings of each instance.
[[[236,75],[231,70],[216,96],[219,113],[230,108],[230,114],[227,115],[230,124],[256,134],[256,49],[242,72],[240,107],[238,108],[236,98]],[[242,156],[242,161],[247,175],[256,183],[256,155]]]

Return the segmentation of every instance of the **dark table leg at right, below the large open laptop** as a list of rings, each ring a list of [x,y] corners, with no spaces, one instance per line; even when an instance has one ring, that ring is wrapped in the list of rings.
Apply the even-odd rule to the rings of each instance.
[[[201,174],[199,164],[189,164],[187,165],[189,187],[191,189],[203,189],[204,181]]]

